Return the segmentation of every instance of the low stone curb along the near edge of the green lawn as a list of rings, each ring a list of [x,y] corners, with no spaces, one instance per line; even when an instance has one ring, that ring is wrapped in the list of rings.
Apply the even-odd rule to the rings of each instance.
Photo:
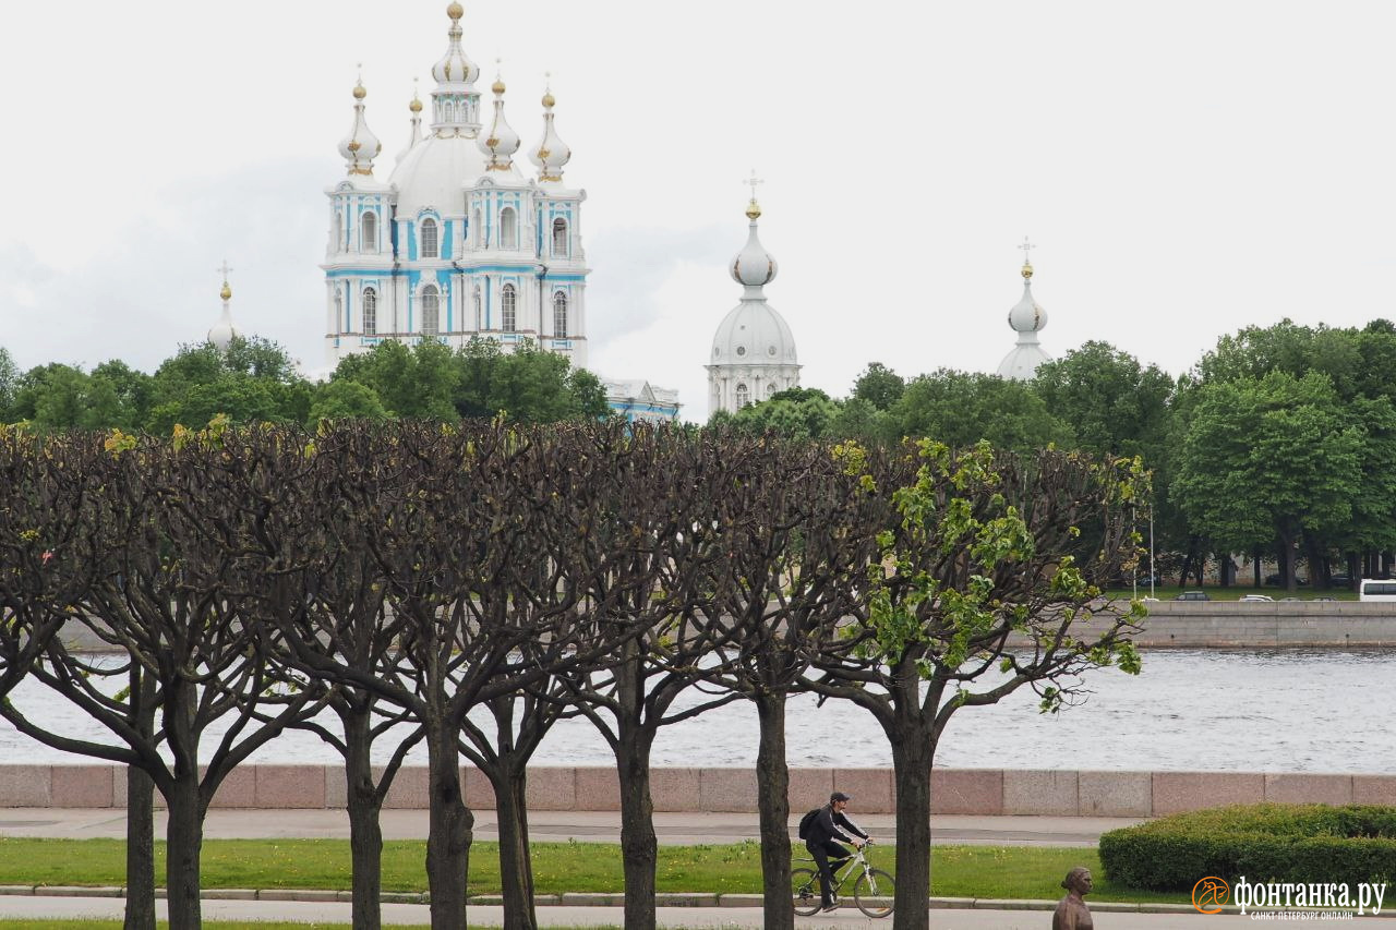
[[[0,895],[32,895],[46,898],[124,898],[126,888],[119,885],[0,885]],[[155,896],[165,898],[165,890],[156,888]],[[200,896],[205,901],[310,901],[310,902],[341,902],[353,901],[352,891],[338,891],[329,888],[204,888]],[[431,902],[431,896],[424,891],[385,891],[378,899],[383,903],[417,903]],[[720,895],[699,891],[663,892],[655,895],[655,905],[659,908],[759,908],[762,895]],[[500,906],[504,903],[501,895],[470,895],[468,903],[479,906]],[[620,892],[568,892],[561,895],[535,895],[535,906],[539,908],[620,908],[625,903],[625,895]],[[1201,912],[1192,905],[1171,903],[1136,903],[1128,901],[1092,901],[1093,913],[1175,913],[1198,915]],[[933,910],[1055,910],[1055,901],[1033,898],[931,898]],[[1255,910],[1251,908],[1251,910]],[[1322,910],[1322,908],[1290,908],[1294,913],[1305,910]],[[1226,905],[1220,913],[1240,915],[1237,905]],[[1396,917],[1396,909],[1383,910],[1379,915],[1362,915],[1364,917]]]

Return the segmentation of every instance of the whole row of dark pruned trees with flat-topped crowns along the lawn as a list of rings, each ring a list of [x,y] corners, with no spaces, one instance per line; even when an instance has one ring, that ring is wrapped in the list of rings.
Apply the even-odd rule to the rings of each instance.
[[[653,926],[653,740],[750,700],[766,922],[789,927],[785,707],[812,691],[867,708],[892,746],[896,926],[921,927],[949,716],[1020,687],[1055,709],[1085,669],[1138,667],[1138,606],[1096,596],[1136,554],[1135,461],[621,425],[215,420],[169,440],[3,430],[0,472],[0,695],[28,676],[110,739],[10,701],[0,715],[128,767],[127,926],[154,926],[152,792],[169,807],[170,920],[194,927],[209,802],[302,728],[343,755],[356,927],[380,926],[378,811],[422,743],[433,926],[465,926],[469,761],[494,786],[507,924],[535,927],[528,764],[565,716],[616,754],[625,926]],[[120,660],[64,648],[67,624]]]

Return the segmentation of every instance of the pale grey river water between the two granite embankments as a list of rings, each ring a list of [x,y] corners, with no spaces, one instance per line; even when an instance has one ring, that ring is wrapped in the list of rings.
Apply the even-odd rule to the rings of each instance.
[[[1037,697],[1026,688],[998,705],[959,709],[941,739],[937,764],[1111,771],[1396,769],[1396,728],[1386,723],[1396,707],[1396,651],[1156,651],[1145,654],[1138,677],[1097,669],[1083,684],[1092,691],[1085,704],[1057,715],[1039,714]],[[110,741],[89,718],[40,686],[21,686],[13,701],[67,736]],[[786,740],[794,767],[892,764],[872,716],[843,701],[817,707],[812,697],[792,698]],[[215,744],[212,736],[205,740],[208,747]],[[377,748],[385,758],[392,747],[384,740]],[[755,711],[737,702],[664,728],[652,761],[750,767],[755,753]],[[289,732],[253,761],[332,764],[338,758],[318,737]],[[0,762],[84,761],[89,760],[50,750],[0,721]],[[426,762],[420,746],[409,762]],[[535,764],[610,765],[613,757],[595,728],[578,719],[554,728]]]

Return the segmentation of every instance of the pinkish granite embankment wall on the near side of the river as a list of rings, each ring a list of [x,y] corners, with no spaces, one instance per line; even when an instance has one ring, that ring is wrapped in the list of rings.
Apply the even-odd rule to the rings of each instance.
[[[494,807],[489,781],[461,772],[466,803]],[[833,788],[857,799],[864,813],[892,813],[886,768],[797,768],[790,771],[792,809],[828,797]],[[159,796],[156,795],[156,799]],[[755,772],[747,768],[659,768],[656,811],[754,811]],[[1258,802],[1396,804],[1396,775],[1305,775],[1265,772],[1083,772],[937,769],[931,807],[937,814],[1039,814],[1057,817],[1160,817],[1182,810]],[[529,769],[533,810],[613,811],[620,788],[610,768]],[[126,769],[117,765],[0,765],[0,807],[124,807]],[[223,782],[214,807],[342,809],[343,769],[334,765],[242,765]],[[426,768],[403,768],[388,793],[389,809],[426,809]]]

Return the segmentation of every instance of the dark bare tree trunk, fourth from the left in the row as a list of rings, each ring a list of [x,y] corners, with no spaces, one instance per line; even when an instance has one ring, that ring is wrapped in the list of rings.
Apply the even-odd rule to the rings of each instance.
[[[427,725],[427,888],[431,892],[431,930],[465,926],[465,895],[470,867],[470,828],[475,815],[461,796],[461,750],[455,728]]]

